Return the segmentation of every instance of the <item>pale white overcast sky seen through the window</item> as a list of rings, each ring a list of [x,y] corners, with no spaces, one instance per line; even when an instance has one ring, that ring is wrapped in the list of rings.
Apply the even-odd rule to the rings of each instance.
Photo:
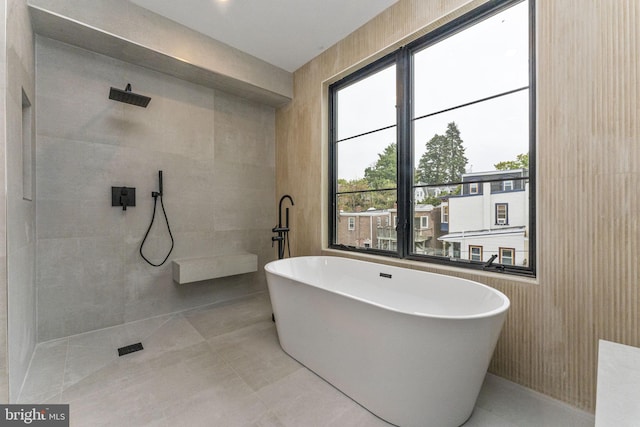
[[[528,86],[527,2],[522,2],[414,56],[414,118]],[[495,78],[495,70],[499,78]],[[394,125],[395,66],[338,94],[338,140]],[[528,90],[414,121],[414,165],[436,133],[455,121],[469,159],[467,171],[529,151]],[[396,142],[392,128],[338,143],[338,178],[364,177],[364,170]]]

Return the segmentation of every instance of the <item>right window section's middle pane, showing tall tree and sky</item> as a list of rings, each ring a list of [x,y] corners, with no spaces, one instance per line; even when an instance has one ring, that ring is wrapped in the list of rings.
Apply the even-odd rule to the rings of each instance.
[[[465,172],[496,165],[528,166],[529,91],[416,120],[413,144],[416,183],[459,182]]]

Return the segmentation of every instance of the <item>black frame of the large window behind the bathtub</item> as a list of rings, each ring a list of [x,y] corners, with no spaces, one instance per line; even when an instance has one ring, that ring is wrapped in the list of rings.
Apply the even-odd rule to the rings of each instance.
[[[412,138],[412,118],[411,118],[411,85],[413,81],[412,75],[412,55],[429,45],[438,43],[439,41],[464,31],[466,28],[475,25],[498,14],[522,1],[528,1],[528,18],[529,18],[529,223],[528,223],[528,266],[505,265],[504,268],[492,269],[492,271],[500,273],[508,273],[527,277],[535,277],[537,270],[536,257],[536,50],[535,50],[535,4],[536,0],[490,0],[475,8],[474,10],[463,14],[462,16],[445,23],[441,27],[428,32],[417,40],[408,43],[406,46],[400,47],[394,52],[364,66],[363,68],[349,74],[348,76],[332,83],[328,88],[328,109],[329,109],[329,215],[328,215],[328,247],[330,249],[339,249],[351,252],[361,252],[369,254],[383,255],[386,257],[402,258],[413,261],[421,261],[434,264],[455,265],[464,268],[481,270],[484,263],[464,260],[461,258],[448,258],[446,256],[421,255],[412,252],[410,247],[413,241],[413,229],[415,227],[413,202],[414,202],[414,183],[411,176],[413,170],[413,142]],[[397,241],[396,250],[382,250],[373,248],[359,248],[346,246],[337,241],[336,218],[337,212],[337,162],[336,158],[336,134],[337,134],[337,92],[350,84],[356,83],[368,76],[375,74],[382,69],[394,65],[396,66],[396,92],[397,92]],[[448,207],[447,207],[448,208]],[[441,223],[444,224],[444,209],[441,211]],[[394,215],[395,217],[395,215]],[[497,217],[496,217],[497,223]],[[447,212],[448,224],[448,212]],[[508,224],[508,218],[507,218]],[[501,224],[502,225],[502,224]],[[515,253],[514,253],[515,258]],[[514,259],[515,261],[515,259]]]

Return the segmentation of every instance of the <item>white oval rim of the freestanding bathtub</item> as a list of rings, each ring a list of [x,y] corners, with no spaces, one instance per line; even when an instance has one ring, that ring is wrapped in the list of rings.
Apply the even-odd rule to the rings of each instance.
[[[380,265],[383,267],[392,267],[392,268],[398,268],[398,269],[403,269],[403,270],[409,270],[409,271],[414,271],[416,273],[424,273],[427,275],[434,275],[434,276],[444,276],[444,277],[449,277],[449,278],[454,278],[456,280],[460,280],[462,282],[467,282],[473,286],[478,286],[483,288],[484,290],[487,290],[488,292],[491,292],[493,294],[496,294],[501,300],[502,300],[502,304],[492,310],[488,310],[488,311],[484,311],[482,313],[477,313],[477,314],[464,314],[464,315],[446,315],[446,314],[433,314],[433,313],[423,313],[423,312],[410,312],[410,311],[406,311],[406,310],[400,310],[398,308],[395,307],[391,307],[388,305],[384,305],[375,301],[371,301],[368,300],[366,298],[362,298],[362,297],[358,297],[355,296],[353,294],[350,293],[346,293],[346,292],[340,292],[340,291],[336,291],[334,289],[327,289],[326,287],[322,287],[322,286],[318,286],[315,285],[313,283],[309,283],[303,280],[300,280],[297,277],[294,277],[290,274],[285,274],[282,272],[276,272],[274,271],[274,265],[276,263],[280,263],[280,262],[291,262],[290,260],[295,260],[295,259],[341,259],[341,260],[348,260],[349,262],[356,262],[356,263],[362,263],[362,264],[372,264],[372,265]],[[283,258],[283,259],[277,259],[277,260],[273,260],[268,262],[267,264],[265,264],[264,266],[264,270],[266,273],[268,274],[273,274],[274,276],[278,276],[278,277],[283,277],[295,282],[299,282],[302,283],[304,285],[307,286],[312,286],[314,288],[323,290],[325,292],[331,292],[337,295],[341,295],[344,296],[346,298],[350,298],[365,304],[370,304],[373,305],[375,307],[379,307],[381,309],[384,310],[389,310],[389,311],[393,311],[396,313],[400,313],[400,314],[404,314],[404,315],[409,315],[409,316],[417,316],[417,317],[424,317],[424,318],[430,318],[430,319],[442,319],[442,320],[473,320],[473,319],[485,319],[485,318],[490,318],[490,317],[495,317],[495,316],[500,316],[500,315],[506,315],[507,312],[509,311],[509,308],[511,306],[511,301],[509,300],[509,297],[507,297],[504,293],[502,293],[501,291],[499,291],[498,289],[495,289],[491,286],[485,285],[484,283],[480,283],[480,282],[476,282],[475,280],[470,280],[470,279],[465,279],[462,277],[458,277],[458,276],[450,276],[447,274],[442,274],[442,273],[432,273],[432,272],[428,272],[428,271],[421,271],[421,270],[414,270],[411,268],[406,268],[406,267],[401,267],[401,266],[393,266],[393,265],[387,265],[387,264],[380,264],[380,263],[376,263],[376,262],[372,262],[372,261],[364,261],[364,260],[359,260],[359,259],[354,259],[354,258],[347,258],[347,257],[339,257],[339,256],[327,256],[327,255],[307,255],[307,256],[299,256],[299,257],[291,257],[291,258]],[[268,276],[267,276],[268,279]],[[267,280],[267,284],[269,285],[269,281]]]

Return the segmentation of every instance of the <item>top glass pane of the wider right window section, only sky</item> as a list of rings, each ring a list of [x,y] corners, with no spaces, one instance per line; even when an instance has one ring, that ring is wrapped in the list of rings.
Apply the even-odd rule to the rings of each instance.
[[[528,3],[416,53],[413,67],[414,117],[528,86]]]

